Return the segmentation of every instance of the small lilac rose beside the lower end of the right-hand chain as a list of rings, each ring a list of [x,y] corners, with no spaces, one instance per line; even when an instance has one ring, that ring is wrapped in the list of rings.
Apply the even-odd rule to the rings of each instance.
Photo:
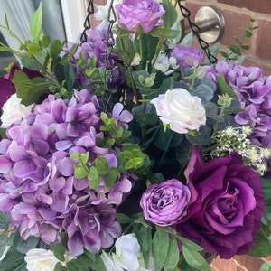
[[[183,46],[175,44],[171,56],[176,58],[177,64],[181,67],[192,67],[195,61],[201,65],[203,63],[203,55],[201,51],[192,46]]]

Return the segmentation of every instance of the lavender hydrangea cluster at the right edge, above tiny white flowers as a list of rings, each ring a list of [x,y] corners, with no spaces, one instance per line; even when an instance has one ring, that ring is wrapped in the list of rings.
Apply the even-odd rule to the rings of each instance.
[[[258,67],[244,67],[225,61],[206,70],[206,77],[215,82],[221,74],[235,91],[243,109],[236,115],[236,122],[251,126],[249,139],[253,145],[271,148],[271,76],[263,76]]]

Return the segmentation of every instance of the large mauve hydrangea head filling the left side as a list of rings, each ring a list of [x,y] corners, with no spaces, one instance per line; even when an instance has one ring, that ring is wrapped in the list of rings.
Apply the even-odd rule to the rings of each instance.
[[[59,231],[67,232],[70,255],[76,257],[84,247],[93,253],[108,248],[120,235],[116,206],[132,187],[130,173],[119,174],[110,189],[103,181],[89,189],[87,177],[74,176],[77,161],[70,159],[89,152],[89,164],[103,155],[109,167],[117,166],[119,151],[97,144],[104,137],[100,113],[97,98],[82,89],[70,100],[49,95],[20,125],[8,127],[0,143],[0,210],[23,239],[51,243]],[[126,119],[120,114],[117,126],[126,126]]]

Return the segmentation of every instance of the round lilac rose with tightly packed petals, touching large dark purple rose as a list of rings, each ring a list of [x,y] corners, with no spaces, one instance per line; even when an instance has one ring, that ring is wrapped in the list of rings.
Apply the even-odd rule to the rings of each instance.
[[[191,192],[179,180],[151,185],[142,195],[140,205],[145,219],[159,226],[169,226],[187,214]]]

